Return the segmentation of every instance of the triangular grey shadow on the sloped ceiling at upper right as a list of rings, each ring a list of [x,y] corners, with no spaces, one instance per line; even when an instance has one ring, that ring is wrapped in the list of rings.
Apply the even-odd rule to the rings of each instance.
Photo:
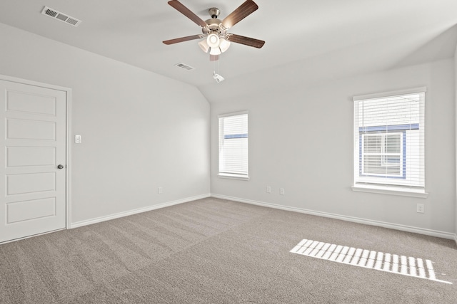
[[[452,58],[457,46],[457,24],[443,31],[428,43],[396,63],[395,67],[416,65],[441,59]]]

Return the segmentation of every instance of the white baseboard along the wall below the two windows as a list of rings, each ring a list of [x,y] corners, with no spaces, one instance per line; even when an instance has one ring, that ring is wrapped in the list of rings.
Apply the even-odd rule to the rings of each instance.
[[[358,224],[380,226],[380,227],[384,227],[384,228],[388,228],[388,229],[396,229],[396,230],[400,230],[400,231],[413,232],[415,234],[424,234],[426,236],[436,236],[436,237],[442,238],[442,239],[455,239],[456,243],[457,243],[456,234],[451,234],[449,232],[444,232],[444,231],[423,229],[423,228],[406,226],[406,225],[401,225],[401,224],[392,224],[392,223],[387,223],[384,221],[373,221],[371,219],[361,219],[361,218],[353,217],[353,216],[342,216],[339,214],[331,214],[331,213],[327,213],[327,212],[313,211],[313,210],[308,210],[308,209],[301,209],[301,208],[296,208],[296,207],[289,207],[289,206],[283,206],[283,205],[278,205],[278,204],[265,203],[263,201],[253,201],[251,199],[240,199],[238,197],[226,196],[226,195],[221,195],[221,194],[212,193],[211,197],[215,197],[216,199],[228,199],[230,201],[238,201],[240,203],[253,204],[253,205],[264,206],[264,207],[269,207],[269,208],[274,208],[274,209],[300,212],[303,214],[323,216],[323,217],[328,217],[331,219],[340,219],[342,221],[351,221],[351,222],[358,223]]]

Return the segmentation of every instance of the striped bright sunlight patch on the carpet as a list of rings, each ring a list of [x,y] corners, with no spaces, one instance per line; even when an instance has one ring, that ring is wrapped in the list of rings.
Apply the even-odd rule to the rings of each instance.
[[[298,253],[312,258],[344,263],[352,266],[371,268],[377,271],[397,273],[403,276],[425,278],[427,280],[452,284],[448,281],[438,280],[433,270],[433,262],[411,256],[383,253],[361,248],[323,243],[303,239],[293,247],[291,253]]]

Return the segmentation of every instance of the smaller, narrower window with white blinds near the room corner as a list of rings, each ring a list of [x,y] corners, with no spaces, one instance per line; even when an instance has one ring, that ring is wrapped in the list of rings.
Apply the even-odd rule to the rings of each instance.
[[[219,177],[248,179],[248,112],[219,115]]]

